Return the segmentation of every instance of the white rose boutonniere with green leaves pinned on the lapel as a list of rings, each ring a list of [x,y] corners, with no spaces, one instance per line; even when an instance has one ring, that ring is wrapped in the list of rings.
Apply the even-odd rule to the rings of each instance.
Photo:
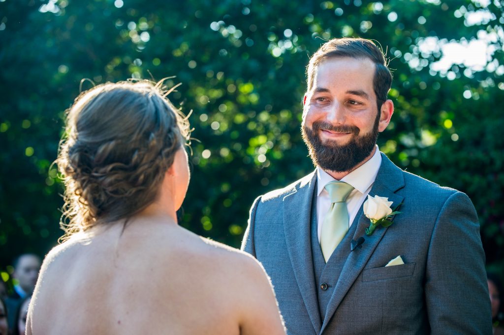
[[[374,196],[371,197],[367,195],[367,200],[364,202],[363,209],[364,215],[371,221],[369,227],[366,228],[366,235],[370,236],[377,226],[388,227],[392,224],[390,220],[397,212],[396,209],[401,205],[399,204],[395,209],[390,206],[392,201],[389,201],[387,197]]]

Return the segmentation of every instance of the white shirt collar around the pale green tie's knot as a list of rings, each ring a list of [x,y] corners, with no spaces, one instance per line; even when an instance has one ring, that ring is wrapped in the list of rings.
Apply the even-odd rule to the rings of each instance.
[[[369,186],[374,183],[378,170],[380,170],[380,165],[382,165],[382,155],[380,154],[380,149],[376,145],[376,150],[371,158],[343,177],[341,181],[352,185],[354,189],[363,194],[367,191]],[[335,180],[336,179],[317,166],[317,195],[321,195],[327,183]]]

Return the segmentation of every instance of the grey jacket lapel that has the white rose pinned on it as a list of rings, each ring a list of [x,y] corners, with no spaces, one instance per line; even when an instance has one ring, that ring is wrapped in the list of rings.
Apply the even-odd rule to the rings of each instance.
[[[369,195],[371,197],[374,197],[375,195],[387,197],[389,198],[389,201],[393,202],[392,208],[395,208],[404,199],[404,197],[394,193],[404,187],[404,177],[402,174],[403,172],[401,169],[394,165],[394,163],[392,163],[389,158],[382,153],[382,165],[376,175],[371,191],[369,191]],[[353,224],[357,224],[357,229],[355,230],[353,239],[357,240],[360,236],[362,236],[365,238],[365,241],[362,244],[362,248],[356,248],[353,252],[350,252],[350,245],[348,246],[349,256],[343,266],[343,269],[341,270],[333,296],[329,301],[321,333],[324,331],[324,328],[329,323],[332,315],[361,273],[362,269],[364,269],[364,266],[371,257],[374,249],[387,231],[387,228],[378,227],[371,236],[365,235],[365,229],[369,226],[369,219],[364,215],[362,205],[355,216]]]

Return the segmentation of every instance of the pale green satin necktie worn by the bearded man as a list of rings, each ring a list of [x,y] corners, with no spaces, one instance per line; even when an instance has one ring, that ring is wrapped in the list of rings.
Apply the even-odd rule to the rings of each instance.
[[[327,261],[334,252],[334,249],[341,242],[348,231],[348,210],[346,208],[346,198],[352,192],[353,187],[344,182],[331,182],[325,187],[329,193],[331,207],[324,217],[322,233],[320,236],[320,246],[322,254]]]

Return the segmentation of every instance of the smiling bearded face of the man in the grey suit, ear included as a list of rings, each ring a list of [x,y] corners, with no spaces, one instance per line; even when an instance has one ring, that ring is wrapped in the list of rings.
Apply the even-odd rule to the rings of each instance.
[[[302,134],[313,162],[324,170],[351,171],[373,152],[393,113],[380,113],[373,89],[375,66],[367,58],[323,60],[304,97]]]

